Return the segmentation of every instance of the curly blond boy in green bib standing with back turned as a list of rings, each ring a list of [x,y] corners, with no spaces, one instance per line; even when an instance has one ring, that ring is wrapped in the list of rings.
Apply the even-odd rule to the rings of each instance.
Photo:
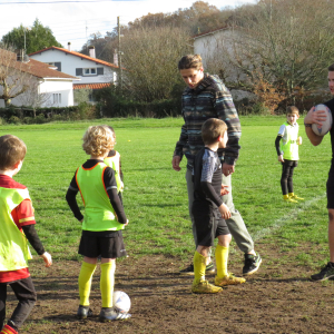
[[[84,135],[84,150],[90,158],[80,166],[69,186],[66,199],[75,215],[82,223],[79,254],[84,262],[79,275],[79,318],[92,315],[89,308],[91,279],[101,256],[100,291],[102,308],[101,322],[126,320],[131,315],[112,307],[116,258],[126,256],[121,229],[128,225],[122,205],[117,194],[115,171],[104,159],[114,148],[115,139],[108,126],[89,127]],[[80,191],[85,205],[82,216],[76,196]]]

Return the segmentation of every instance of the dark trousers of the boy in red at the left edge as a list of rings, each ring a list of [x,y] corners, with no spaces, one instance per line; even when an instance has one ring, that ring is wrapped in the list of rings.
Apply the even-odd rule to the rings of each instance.
[[[18,331],[30,314],[36,303],[37,295],[31,277],[8,283],[0,283],[0,331],[3,327],[6,318],[7,285],[10,285],[19,301],[19,304],[8,321],[8,324],[13,327],[13,330]]]

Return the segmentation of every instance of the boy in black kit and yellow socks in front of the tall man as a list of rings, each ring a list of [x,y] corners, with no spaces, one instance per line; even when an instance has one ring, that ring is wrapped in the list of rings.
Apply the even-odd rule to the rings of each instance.
[[[227,272],[228,246],[232,239],[225,219],[230,218],[229,208],[222,200],[228,191],[222,185],[222,163],[218,148],[227,143],[227,126],[217,118],[206,120],[202,126],[202,138],[205,147],[196,155],[194,164],[194,215],[197,243],[194,255],[193,293],[215,294],[222,286],[245,283],[245,278],[235,277]],[[215,285],[205,279],[206,263],[214,239],[218,237],[216,247],[217,275]]]

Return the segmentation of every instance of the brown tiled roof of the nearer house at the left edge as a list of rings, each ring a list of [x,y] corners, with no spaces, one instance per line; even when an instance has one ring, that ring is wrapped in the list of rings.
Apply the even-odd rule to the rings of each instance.
[[[17,60],[17,55],[14,52],[0,49],[0,72],[1,67],[13,68],[21,72],[27,72],[37,78],[58,78],[58,79],[78,79],[76,77],[59,72],[57,70],[50,69],[50,66],[35,60],[29,59],[28,62],[22,62]]]

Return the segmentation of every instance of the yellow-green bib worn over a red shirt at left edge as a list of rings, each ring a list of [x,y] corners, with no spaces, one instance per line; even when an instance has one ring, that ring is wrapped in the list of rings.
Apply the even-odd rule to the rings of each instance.
[[[31,258],[28,240],[11,217],[24,199],[30,199],[28,189],[0,187],[0,272],[27,268]]]

